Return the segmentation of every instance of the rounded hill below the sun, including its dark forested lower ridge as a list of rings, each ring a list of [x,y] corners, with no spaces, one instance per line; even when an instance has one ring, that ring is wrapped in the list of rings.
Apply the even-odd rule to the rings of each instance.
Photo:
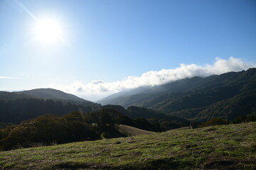
[[[0,91],[0,123],[20,123],[39,115],[65,115],[73,111],[90,112],[100,104],[55,89]]]

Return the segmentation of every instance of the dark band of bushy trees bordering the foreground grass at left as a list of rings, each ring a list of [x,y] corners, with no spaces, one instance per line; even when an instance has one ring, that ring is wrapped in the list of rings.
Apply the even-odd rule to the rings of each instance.
[[[161,131],[157,123],[144,118],[130,119],[112,108],[92,112],[75,111],[67,115],[45,114],[0,129],[0,149],[124,137],[118,131],[117,124]]]

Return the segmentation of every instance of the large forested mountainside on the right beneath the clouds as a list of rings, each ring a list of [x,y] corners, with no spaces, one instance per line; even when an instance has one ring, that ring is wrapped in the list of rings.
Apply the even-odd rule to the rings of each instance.
[[[133,89],[97,102],[151,108],[191,120],[233,120],[241,114],[256,113],[256,69]]]

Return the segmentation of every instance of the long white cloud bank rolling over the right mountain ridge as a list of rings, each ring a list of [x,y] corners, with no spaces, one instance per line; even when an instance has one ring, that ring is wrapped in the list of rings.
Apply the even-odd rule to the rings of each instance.
[[[230,57],[228,60],[215,58],[213,64],[206,64],[204,66],[197,64],[180,64],[180,66],[175,69],[149,71],[145,72],[140,77],[129,76],[119,81],[105,82],[102,80],[94,80],[88,84],[83,84],[82,81],[77,80],[67,86],[52,85],[50,87],[78,95],[87,100],[96,101],[110,94],[127,89],[134,89],[139,86],[157,86],[186,77],[207,77],[212,74],[239,72],[252,67],[256,67],[256,64],[244,62],[235,57]]]

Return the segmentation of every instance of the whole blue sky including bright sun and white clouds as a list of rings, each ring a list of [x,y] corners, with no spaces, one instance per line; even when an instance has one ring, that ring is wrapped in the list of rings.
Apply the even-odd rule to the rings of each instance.
[[[251,67],[255,0],[0,0],[0,91],[97,101]]]

